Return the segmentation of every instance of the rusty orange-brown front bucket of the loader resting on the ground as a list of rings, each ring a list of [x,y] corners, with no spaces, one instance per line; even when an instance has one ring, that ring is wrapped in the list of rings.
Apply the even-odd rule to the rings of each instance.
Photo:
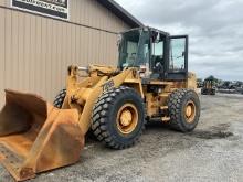
[[[83,147],[76,109],[57,109],[35,95],[6,90],[0,160],[17,181],[77,162]]]

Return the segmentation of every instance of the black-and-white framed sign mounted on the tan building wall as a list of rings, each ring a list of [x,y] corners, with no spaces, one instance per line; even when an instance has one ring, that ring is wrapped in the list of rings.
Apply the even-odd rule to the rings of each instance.
[[[68,20],[68,0],[11,0],[12,7]]]

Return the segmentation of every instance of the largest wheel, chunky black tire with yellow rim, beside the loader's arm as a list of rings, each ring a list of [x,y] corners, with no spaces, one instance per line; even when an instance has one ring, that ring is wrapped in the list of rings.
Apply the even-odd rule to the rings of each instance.
[[[97,99],[93,109],[92,130],[108,148],[129,148],[138,141],[145,129],[144,108],[144,100],[135,89],[125,86],[113,88]],[[128,118],[133,119],[128,119],[128,126],[122,126],[127,110]]]

